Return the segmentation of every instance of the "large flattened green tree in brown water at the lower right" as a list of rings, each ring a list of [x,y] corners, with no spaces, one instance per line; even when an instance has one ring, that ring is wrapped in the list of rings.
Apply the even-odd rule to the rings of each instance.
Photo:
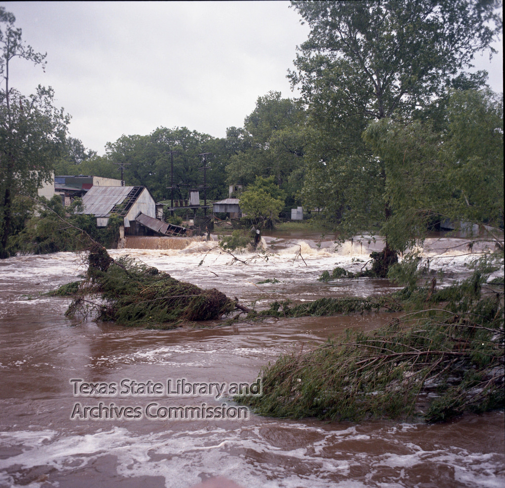
[[[503,408],[503,293],[481,296],[483,280],[477,272],[439,291],[405,289],[397,300],[416,305],[401,319],[283,354],[262,369],[261,396],[236,400],[261,415],[353,421]]]

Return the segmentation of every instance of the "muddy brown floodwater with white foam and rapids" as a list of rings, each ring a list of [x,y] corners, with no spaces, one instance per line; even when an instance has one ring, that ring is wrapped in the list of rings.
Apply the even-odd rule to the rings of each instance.
[[[386,280],[317,281],[335,266],[359,270],[380,242],[335,251],[317,236],[267,237],[267,253],[237,261],[216,242],[156,249],[155,240],[111,254],[257,308],[396,289]],[[423,255],[458,278],[479,250],[433,238]],[[67,299],[41,295],[84,272],[78,253],[0,261],[1,487],[189,488],[216,475],[246,488],[504,485],[502,411],[445,424],[332,423],[260,417],[230,399],[237,386],[254,391],[260,369],[280,353],[346,328],[376,328],[391,315],[127,329],[67,319]]]

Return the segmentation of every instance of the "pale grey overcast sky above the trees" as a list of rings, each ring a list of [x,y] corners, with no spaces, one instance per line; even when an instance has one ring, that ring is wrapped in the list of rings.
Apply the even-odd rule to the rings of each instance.
[[[0,2],[23,39],[47,52],[45,73],[13,63],[11,86],[52,86],[70,133],[103,154],[122,134],[187,127],[224,137],[259,96],[295,96],[286,79],[309,29],[287,1]],[[503,91],[499,55],[479,56]]]

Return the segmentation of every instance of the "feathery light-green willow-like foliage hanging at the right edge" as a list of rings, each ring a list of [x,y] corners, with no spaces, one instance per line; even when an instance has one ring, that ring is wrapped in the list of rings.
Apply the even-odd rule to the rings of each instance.
[[[393,214],[383,232],[400,250],[430,221],[503,228],[503,97],[453,91],[439,124],[382,119],[364,134],[386,167]]]

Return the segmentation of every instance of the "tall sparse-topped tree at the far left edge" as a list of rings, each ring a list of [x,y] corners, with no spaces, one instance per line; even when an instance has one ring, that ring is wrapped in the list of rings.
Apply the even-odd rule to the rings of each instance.
[[[63,109],[53,105],[50,87],[39,85],[27,96],[11,86],[14,59],[45,66],[45,54],[23,41],[15,21],[14,15],[0,7],[0,258],[10,255],[16,195],[35,195],[41,183],[49,180],[69,122]]]

